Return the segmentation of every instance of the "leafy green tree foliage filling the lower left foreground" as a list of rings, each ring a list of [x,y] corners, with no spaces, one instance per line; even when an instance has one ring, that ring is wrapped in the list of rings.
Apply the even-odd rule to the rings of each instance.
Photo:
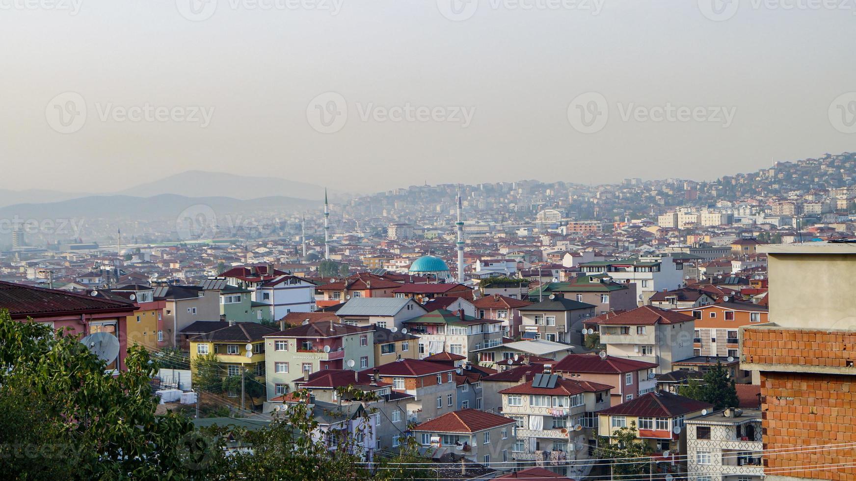
[[[258,430],[194,429],[178,413],[156,413],[150,382],[158,362],[145,349],[129,348],[127,371],[114,375],[77,337],[45,324],[13,321],[0,311],[4,478],[385,481],[436,474],[419,469],[431,462],[418,456],[412,437],[400,453],[375,454],[372,465],[365,464],[366,450],[354,436],[336,438],[331,450],[306,403],[282,412],[270,425],[259,423]],[[364,404],[367,422],[377,396],[342,394]],[[238,448],[229,455],[227,442]]]

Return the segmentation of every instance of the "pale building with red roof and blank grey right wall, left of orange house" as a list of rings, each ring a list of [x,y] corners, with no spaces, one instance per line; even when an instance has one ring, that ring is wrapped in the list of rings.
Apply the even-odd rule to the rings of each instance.
[[[681,312],[642,306],[599,319],[597,326],[607,354],[656,363],[659,374],[693,357],[694,321]]]

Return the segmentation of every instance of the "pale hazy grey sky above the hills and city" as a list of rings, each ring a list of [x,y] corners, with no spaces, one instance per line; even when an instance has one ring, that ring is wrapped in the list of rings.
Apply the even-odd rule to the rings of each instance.
[[[710,179],[856,149],[856,0],[731,1],[0,0],[0,187]]]

